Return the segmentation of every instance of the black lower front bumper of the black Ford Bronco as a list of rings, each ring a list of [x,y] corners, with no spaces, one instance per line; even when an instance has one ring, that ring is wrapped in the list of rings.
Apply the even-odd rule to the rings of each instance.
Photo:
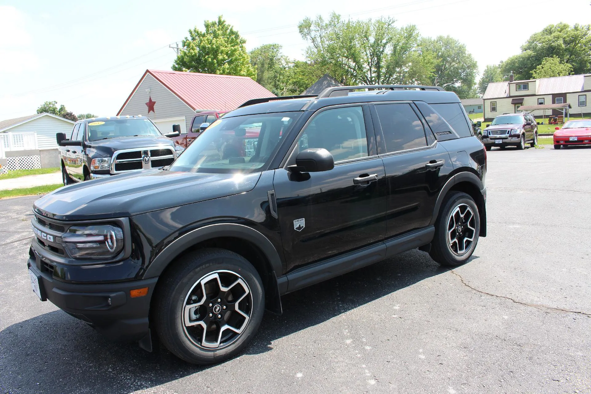
[[[150,299],[158,278],[111,284],[62,282],[43,269],[36,253],[27,267],[38,278],[41,301],[47,299],[61,310],[86,323],[112,341],[137,341],[148,334]],[[129,291],[148,288],[148,294],[132,298]]]

